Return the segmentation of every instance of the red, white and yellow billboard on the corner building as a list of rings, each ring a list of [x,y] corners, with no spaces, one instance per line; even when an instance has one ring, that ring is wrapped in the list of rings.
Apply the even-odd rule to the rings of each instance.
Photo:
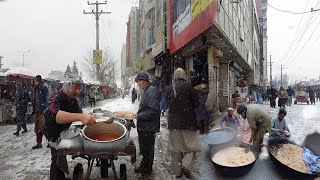
[[[171,54],[213,25],[217,6],[217,0],[170,0]]]

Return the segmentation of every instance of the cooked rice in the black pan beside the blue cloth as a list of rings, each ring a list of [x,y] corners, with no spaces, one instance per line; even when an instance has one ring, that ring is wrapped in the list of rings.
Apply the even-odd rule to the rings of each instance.
[[[308,167],[303,160],[302,147],[294,144],[283,144],[272,153],[281,163],[303,173],[307,173]]]

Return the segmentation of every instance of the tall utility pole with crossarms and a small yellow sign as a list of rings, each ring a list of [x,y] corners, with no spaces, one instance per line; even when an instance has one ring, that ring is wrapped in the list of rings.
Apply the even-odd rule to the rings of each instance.
[[[96,1],[95,3],[89,3],[88,1],[88,5],[95,5],[96,6],[96,11],[92,10],[91,12],[85,12],[85,10],[83,10],[83,14],[93,14],[96,18],[96,50],[99,50],[99,17],[101,14],[111,14],[111,12],[103,12],[103,10],[99,11],[99,5],[106,5],[107,1],[103,2],[103,3],[99,3],[98,1]],[[100,72],[100,65],[96,64],[96,79],[99,80],[99,72]]]

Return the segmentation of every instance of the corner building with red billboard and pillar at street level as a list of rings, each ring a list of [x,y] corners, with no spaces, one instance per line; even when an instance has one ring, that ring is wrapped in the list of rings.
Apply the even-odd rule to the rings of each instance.
[[[186,69],[194,85],[208,80],[210,110],[225,110],[237,82],[260,84],[259,22],[254,1],[167,3],[174,67]]]

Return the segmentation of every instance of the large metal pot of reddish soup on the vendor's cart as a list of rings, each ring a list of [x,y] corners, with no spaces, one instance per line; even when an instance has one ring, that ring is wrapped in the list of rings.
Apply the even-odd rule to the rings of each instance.
[[[115,118],[116,120],[111,124],[105,122],[98,122],[93,125],[87,125],[82,129],[82,136],[84,139],[84,151],[89,153],[103,153],[103,152],[119,152],[124,151],[129,143],[130,133],[127,128],[121,123],[125,120],[121,118]],[[120,122],[117,121],[120,120]],[[112,133],[118,136],[118,138],[101,141],[94,140],[90,137],[103,134]]]

